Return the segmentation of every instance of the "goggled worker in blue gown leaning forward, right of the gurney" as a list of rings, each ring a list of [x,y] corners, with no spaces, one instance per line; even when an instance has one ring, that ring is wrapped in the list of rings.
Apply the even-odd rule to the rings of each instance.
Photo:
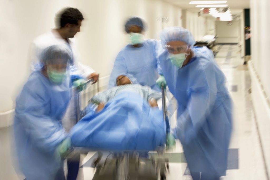
[[[178,102],[176,136],[194,180],[218,180],[226,174],[232,131],[232,101],[225,77],[207,47],[193,47],[191,33],[165,29],[160,67]],[[165,83],[165,81],[163,82]]]

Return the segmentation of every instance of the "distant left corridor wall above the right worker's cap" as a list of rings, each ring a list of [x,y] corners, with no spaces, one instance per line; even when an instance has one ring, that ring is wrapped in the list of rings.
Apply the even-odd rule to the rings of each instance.
[[[207,34],[215,35],[213,18],[198,16],[198,13],[183,10],[183,27],[190,30],[195,41],[200,41]]]

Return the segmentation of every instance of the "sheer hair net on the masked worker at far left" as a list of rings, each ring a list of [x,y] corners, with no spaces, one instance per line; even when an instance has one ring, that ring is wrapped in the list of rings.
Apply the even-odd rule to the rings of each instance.
[[[42,51],[42,62],[44,64],[66,64],[72,60],[72,52],[66,45],[53,45]]]

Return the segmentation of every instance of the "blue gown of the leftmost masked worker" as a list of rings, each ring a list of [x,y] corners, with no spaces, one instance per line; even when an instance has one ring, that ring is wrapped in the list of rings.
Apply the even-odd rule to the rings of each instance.
[[[53,180],[62,168],[55,149],[68,135],[61,118],[69,103],[70,87],[69,78],[58,86],[36,71],[16,99],[15,143],[27,180]]]

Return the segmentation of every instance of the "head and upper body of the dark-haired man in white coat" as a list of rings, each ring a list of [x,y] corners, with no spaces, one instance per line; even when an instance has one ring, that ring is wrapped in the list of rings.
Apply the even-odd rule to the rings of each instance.
[[[79,54],[77,52],[74,36],[77,32],[80,32],[80,26],[83,21],[82,13],[76,8],[64,8],[60,10],[55,17],[56,29],[50,30],[50,32],[38,36],[32,43],[31,49],[31,69],[33,71],[40,70],[43,64],[40,59],[40,55],[43,49],[51,45],[63,44],[70,48],[72,51],[71,69],[72,74],[78,74],[73,78],[73,81],[79,79],[93,79],[94,82],[98,80],[99,74],[95,71],[79,62]],[[83,82],[82,80],[73,82],[79,86]]]

